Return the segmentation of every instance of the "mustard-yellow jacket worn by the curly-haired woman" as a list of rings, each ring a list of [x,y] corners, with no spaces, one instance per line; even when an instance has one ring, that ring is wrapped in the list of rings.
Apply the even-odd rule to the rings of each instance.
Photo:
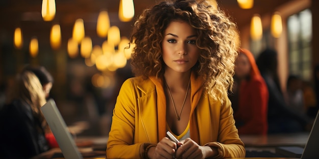
[[[202,81],[191,76],[190,136],[199,145],[217,147],[216,158],[245,157],[231,103],[202,93]],[[203,95],[203,96],[202,96]],[[196,109],[195,109],[196,108]],[[166,99],[161,79],[127,79],[113,111],[108,158],[144,158],[145,147],[166,136]]]

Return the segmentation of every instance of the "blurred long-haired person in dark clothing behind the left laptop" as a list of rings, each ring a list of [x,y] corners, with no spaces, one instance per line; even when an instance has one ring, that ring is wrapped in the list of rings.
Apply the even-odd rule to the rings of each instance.
[[[52,82],[44,67],[28,66],[17,74],[0,112],[2,157],[30,158],[58,145],[40,109],[46,103]]]

